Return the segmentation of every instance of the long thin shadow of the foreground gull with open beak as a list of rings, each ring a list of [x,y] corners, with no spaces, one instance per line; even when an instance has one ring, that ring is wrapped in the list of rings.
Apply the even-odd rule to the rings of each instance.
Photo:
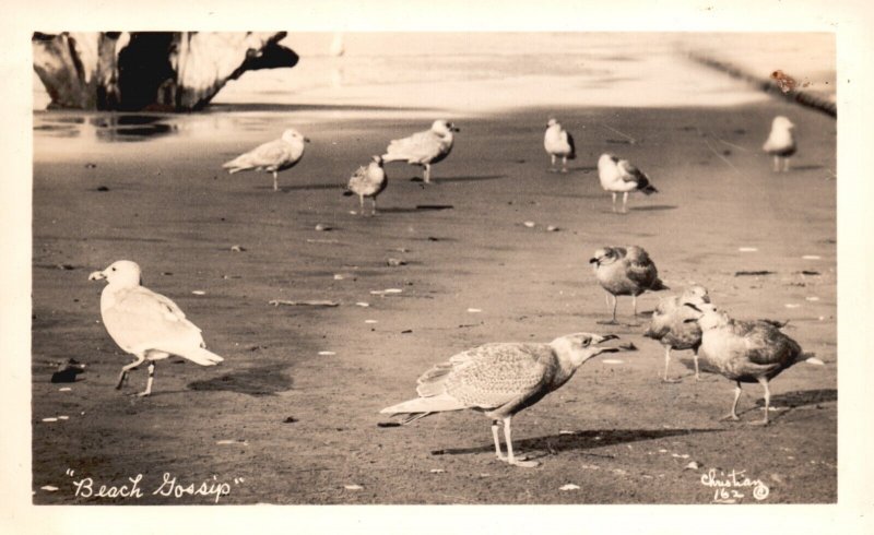
[[[641,440],[657,440],[671,437],[698,435],[702,432],[720,432],[722,428],[713,429],[606,429],[575,431],[572,435],[548,435],[529,439],[513,439],[513,451],[520,451],[529,459],[538,459],[547,454],[555,454],[566,450],[590,450],[605,445],[625,444]],[[495,451],[493,443],[474,448],[451,448],[438,450],[433,454],[460,455],[471,453],[489,453]]]

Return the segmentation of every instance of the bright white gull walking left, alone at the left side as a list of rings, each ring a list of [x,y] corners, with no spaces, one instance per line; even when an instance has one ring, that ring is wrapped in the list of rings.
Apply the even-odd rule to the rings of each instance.
[[[88,281],[106,281],[101,294],[101,317],[109,336],[137,360],[121,368],[116,389],[128,378],[128,371],[149,360],[149,382],[137,394],[152,393],[155,360],[178,355],[201,366],[215,366],[224,360],[205,349],[200,329],[186,319],[175,302],[141,286],[140,266],[130,260],[114,262],[104,271],[95,271]]]

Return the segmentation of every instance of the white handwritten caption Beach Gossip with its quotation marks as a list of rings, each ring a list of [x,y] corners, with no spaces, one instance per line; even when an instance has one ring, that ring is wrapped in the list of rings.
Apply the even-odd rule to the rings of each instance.
[[[67,471],[70,477],[75,476],[72,469]],[[73,489],[76,498],[128,498],[140,499],[144,496],[143,489],[140,487],[143,480],[142,474],[137,474],[134,477],[128,477],[128,480],[122,484],[114,485],[98,485],[91,477],[73,480]],[[241,477],[234,478],[234,485],[239,485],[244,482]],[[231,494],[231,483],[220,482],[216,476],[212,476],[212,480],[196,483],[182,483],[176,476],[170,475],[168,472],[164,473],[161,485],[150,492],[152,496],[163,496],[165,498],[182,498],[185,496],[208,496],[215,499],[215,503],[223,496]]]

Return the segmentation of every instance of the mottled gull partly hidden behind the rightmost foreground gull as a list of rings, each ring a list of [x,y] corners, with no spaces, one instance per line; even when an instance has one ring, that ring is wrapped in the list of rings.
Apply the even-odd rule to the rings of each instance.
[[[662,297],[652,312],[652,321],[643,336],[658,340],[664,346],[664,382],[678,382],[680,379],[668,379],[668,365],[671,361],[671,349],[692,349],[695,359],[695,379],[700,380],[698,371],[698,347],[701,345],[701,328],[697,322],[686,322],[694,312],[684,305],[704,305],[710,302],[710,296],[704,286],[690,286],[680,296]]]

